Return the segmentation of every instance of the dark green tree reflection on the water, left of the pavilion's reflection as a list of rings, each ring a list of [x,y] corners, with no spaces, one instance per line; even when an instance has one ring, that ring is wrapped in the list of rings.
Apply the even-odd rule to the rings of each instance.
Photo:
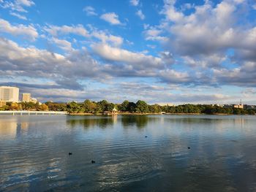
[[[83,128],[90,128],[94,126],[107,128],[108,126],[113,126],[114,123],[114,118],[83,118],[67,120],[67,125],[71,126],[71,128],[75,128],[75,126],[83,126]]]

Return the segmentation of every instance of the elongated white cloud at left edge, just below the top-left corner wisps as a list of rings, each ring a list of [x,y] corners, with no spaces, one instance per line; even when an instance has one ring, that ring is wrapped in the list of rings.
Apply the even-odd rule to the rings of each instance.
[[[23,24],[12,26],[7,20],[3,19],[0,19],[0,32],[12,34],[14,36],[21,35],[28,37],[32,41],[38,37],[37,29],[34,28],[34,26],[24,26]]]

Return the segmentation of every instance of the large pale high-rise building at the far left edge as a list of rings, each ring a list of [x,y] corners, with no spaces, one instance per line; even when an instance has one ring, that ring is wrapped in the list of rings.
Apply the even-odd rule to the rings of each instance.
[[[0,100],[7,102],[18,102],[19,88],[0,86]]]

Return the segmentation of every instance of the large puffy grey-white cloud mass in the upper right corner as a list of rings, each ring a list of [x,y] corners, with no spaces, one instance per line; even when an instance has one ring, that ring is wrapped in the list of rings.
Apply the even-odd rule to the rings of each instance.
[[[190,15],[177,10],[174,3],[165,1],[161,13],[171,22],[167,28],[172,37],[169,45],[178,54],[210,55],[229,48],[251,49],[255,45],[255,28],[238,26],[239,15],[244,14],[241,7],[246,6],[244,1],[221,1],[216,7],[206,1],[195,6]]]

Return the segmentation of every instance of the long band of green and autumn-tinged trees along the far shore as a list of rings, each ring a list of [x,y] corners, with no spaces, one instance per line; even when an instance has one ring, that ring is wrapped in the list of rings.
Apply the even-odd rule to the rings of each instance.
[[[178,106],[159,106],[158,104],[147,104],[146,101],[124,101],[121,104],[113,104],[106,100],[90,101],[86,99],[83,102],[54,103],[51,101],[39,105],[32,102],[7,103],[0,110],[50,110],[67,111],[72,114],[101,114],[105,111],[111,111],[116,108],[118,112],[124,114],[225,114],[225,115],[255,115],[256,110],[238,109],[234,107],[219,107],[210,104],[182,104]]]

